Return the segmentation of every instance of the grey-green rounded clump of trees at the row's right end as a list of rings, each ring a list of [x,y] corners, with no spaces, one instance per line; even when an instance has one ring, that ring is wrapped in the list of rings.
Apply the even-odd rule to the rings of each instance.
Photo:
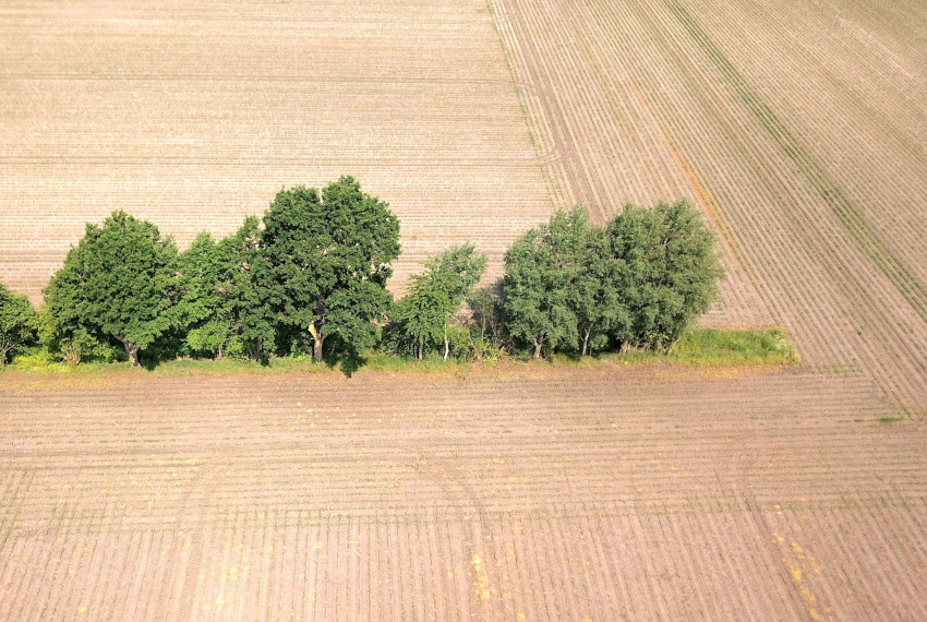
[[[606,227],[585,210],[557,212],[505,255],[501,303],[516,342],[587,355],[667,350],[708,311],[722,272],[714,235],[687,201],[628,205]]]

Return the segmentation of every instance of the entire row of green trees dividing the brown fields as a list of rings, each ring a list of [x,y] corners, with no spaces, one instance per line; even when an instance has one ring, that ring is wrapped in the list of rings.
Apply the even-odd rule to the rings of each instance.
[[[133,366],[142,352],[322,360],[377,345],[418,359],[667,349],[715,296],[713,244],[685,201],[628,205],[606,226],[575,208],[516,240],[496,284],[475,289],[486,256],[465,244],[429,260],[394,302],[399,223],[351,177],[280,191],[262,219],[219,241],[201,234],[182,253],[116,212],[87,225],[40,313],[0,285],[0,361],[36,342],[74,364],[124,356]]]

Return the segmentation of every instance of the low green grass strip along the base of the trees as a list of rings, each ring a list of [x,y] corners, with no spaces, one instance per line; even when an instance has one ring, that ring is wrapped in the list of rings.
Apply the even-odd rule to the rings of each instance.
[[[718,328],[694,328],[686,333],[669,354],[631,350],[629,352],[598,354],[594,357],[556,354],[544,361],[532,361],[527,355],[507,357],[503,364],[527,367],[550,364],[553,367],[594,368],[604,361],[622,366],[646,366],[678,363],[694,367],[757,367],[787,366],[798,362],[798,354],[785,332],[780,328],[759,331],[733,331]],[[179,359],[160,362],[142,373],[157,376],[194,375],[248,375],[284,373],[346,373],[385,372],[428,374],[461,378],[481,363],[457,359],[443,360],[437,352],[418,361],[410,357],[394,357],[371,352],[361,361],[314,362],[311,357],[275,358],[266,364],[231,358],[218,360]],[[487,367],[482,363],[483,367]],[[108,374],[129,370],[128,362],[89,362],[69,367],[44,350],[32,350],[17,356],[7,369],[23,372],[52,372],[67,374]]]

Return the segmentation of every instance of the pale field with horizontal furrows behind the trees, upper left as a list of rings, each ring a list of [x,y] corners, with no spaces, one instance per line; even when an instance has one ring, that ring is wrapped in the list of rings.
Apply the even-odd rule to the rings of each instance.
[[[401,222],[394,287],[467,240],[498,274],[551,213],[480,1],[7,2],[0,81],[0,280],[34,301],[116,208],[183,248],[353,175]]]

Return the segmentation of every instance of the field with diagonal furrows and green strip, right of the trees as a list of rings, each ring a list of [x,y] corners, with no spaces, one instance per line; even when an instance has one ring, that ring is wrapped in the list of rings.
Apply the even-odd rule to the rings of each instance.
[[[923,7],[492,3],[562,204],[698,200],[731,272],[710,323],[771,315],[924,414]]]

